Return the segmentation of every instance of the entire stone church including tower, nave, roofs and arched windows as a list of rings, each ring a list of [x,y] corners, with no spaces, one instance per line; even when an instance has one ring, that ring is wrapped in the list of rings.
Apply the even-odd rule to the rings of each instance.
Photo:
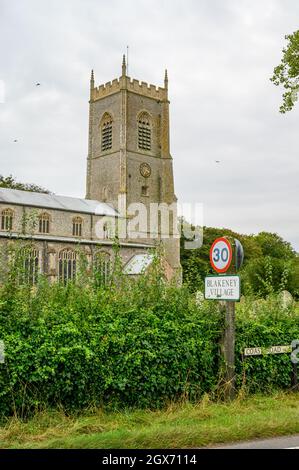
[[[180,278],[167,71],[164,87],[139,82],[127,76],[125,56],[121,77],[95,86],[91,73],[86,197],[0,188],[0,249],[30,240],[32,282],[38,273],[74,279],[78,249],[90,268],[100,259],[108,275],[116,236],[128,275],[139,274],[162,246],[166,276]]]

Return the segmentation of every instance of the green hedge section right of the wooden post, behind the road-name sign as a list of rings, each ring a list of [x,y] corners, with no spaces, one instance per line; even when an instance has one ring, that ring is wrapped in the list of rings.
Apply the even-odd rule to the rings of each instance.
[[[280,295],[248,298],[237,307],[237,385],[249,392],[292,387],[290,354],[242,357],[244,348],[290,345],[299,340],[299,306],[283,306]],[[298,356],[299,359],[299,356]]]

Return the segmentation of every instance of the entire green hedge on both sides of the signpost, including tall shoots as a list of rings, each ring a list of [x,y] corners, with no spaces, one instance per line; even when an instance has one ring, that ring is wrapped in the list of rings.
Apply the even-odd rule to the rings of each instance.
[[[156,408],[217,393],[223,329],[217,302],[199,302],[187,287],[166,285],[158,259],[134,281],[115,266],[106,286],[82,272],[77,284],[49,285],[40,278],[30,287],[22,285],[21,268],[11,261],[0,288],[6,348],[0,415],[57,406]],[[239,304],[239,387],[291,385],[288,355],[242,363],[241,352],[245,346],[289,344],[299,337],[298,320],[295,305],[283,308],[277,296]]]

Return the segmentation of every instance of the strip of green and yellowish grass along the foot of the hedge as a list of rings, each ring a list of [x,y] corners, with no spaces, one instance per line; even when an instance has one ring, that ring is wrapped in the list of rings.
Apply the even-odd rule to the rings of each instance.
[[[208,397],[161,411],[43,412],[0,427],[0,448],[195,448],[299,433],[299,395],[252,396],[231,403]]]

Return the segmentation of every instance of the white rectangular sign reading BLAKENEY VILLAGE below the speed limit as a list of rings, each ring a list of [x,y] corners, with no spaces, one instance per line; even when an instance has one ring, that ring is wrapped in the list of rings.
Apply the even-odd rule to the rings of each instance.
[[[205,298],[209,300],[240,300],[240,277],[206,277]]]

